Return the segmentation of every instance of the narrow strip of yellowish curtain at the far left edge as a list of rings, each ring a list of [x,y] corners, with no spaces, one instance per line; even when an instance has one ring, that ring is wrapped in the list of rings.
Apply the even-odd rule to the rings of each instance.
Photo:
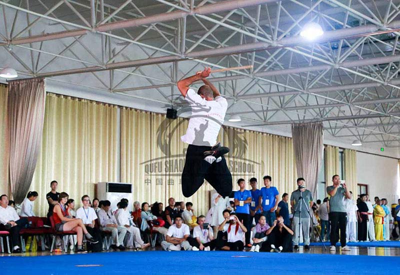
[[[8,88],[0,84],[0,194],[9,195],[8,184],[8,152],[9,140],[7,134],[7,101]]]

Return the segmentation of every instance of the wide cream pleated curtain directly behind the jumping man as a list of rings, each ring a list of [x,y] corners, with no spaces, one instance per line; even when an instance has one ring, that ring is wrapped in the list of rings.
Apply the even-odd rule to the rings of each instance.
[[[161,201],[172,196],[176,201],[191,201],[196,214],[209,208],[210,184],[205,182],[191,197],[182,195],[180,176],[187,144],[180,140],[187,119],[167,119],[164,114],[121,109],[121,181],[133,184],[133,200]],[[291,139],[248,130],[223,127],[218,136],[230,147],[226,161],[236,180],[272,176],[279,192],[291,192],[295,186],[295,167]],[[262,148],[262,149],[261,149]],[[249,187],[249,186],[248,186]]]

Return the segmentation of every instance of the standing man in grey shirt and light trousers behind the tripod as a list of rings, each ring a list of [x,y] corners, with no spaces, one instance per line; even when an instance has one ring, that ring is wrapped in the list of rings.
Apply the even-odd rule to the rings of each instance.
[[[302,200],[303,199],[303,200]],[[305,203],[304,203],[305,202]],[[294,227],[294,249],[298,249],[299,235],[302,229],[304,239],[304,249],[309,249],[309,209],[312,206],[312,194],[304,186],[304,178],[297,178],[297,190],[294,190],[290,196],[290,205],[294,209],[293,227]]]

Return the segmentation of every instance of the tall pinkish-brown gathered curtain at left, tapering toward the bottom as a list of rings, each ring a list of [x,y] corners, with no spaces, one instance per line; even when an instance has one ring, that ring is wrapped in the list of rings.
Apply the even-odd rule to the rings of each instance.
[[[9,83],[9,180],[15,203],[21,203],[32,180],[43,130],[44,79]]]

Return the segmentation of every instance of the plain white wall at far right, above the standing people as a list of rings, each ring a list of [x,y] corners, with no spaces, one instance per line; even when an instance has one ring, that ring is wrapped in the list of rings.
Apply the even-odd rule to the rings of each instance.
[[[385,197],[389,203],[399,197],[397,159],[357,152],[358,183],[368,184],[371,200]]]

